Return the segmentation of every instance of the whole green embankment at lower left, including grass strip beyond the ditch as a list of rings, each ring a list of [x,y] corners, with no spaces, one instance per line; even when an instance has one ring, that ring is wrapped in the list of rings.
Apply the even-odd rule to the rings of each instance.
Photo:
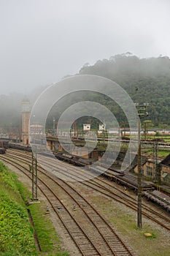
[[[42,203],[26,207],[28,197],[28,190],[17,176],[0,162],[0,255],[69,255],[61,250],[52,222],[42,212]],[[41,252],[34,243],[34,227],[29,222],[27,208],[34,221]]]

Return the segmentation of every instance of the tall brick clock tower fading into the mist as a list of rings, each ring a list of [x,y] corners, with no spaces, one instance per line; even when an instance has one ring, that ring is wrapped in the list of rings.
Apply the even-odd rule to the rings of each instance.
[[[23,145],[29,144],[29,118],[30,118],[30,102],[25,97],[22,101],[22,139]]]

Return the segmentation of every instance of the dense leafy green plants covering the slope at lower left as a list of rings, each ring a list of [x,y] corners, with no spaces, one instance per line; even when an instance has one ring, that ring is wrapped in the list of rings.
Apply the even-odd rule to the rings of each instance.
[[[20,196],[21,185],[0,162],[0,255],[36,255],[33,228]]]

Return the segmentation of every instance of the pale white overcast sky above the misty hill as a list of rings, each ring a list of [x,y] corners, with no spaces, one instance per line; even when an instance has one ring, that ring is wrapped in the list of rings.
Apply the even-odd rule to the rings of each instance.
[[[170,56],[169,27],[169,0],[0,0],[0,94],[127,51]]]

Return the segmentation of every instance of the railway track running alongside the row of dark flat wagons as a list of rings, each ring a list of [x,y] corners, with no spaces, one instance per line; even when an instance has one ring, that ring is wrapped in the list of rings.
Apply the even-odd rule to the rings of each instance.
[[[20,159],[22,159],[22,157]],[[28,159],[30,159],[30,156],[28,156]],[[50,163],[49,158],[47,158],[47,166],[49,167],[49,165],[53,169],[54,166]],[[58,163],[58,167],[60,169],[63,168],[64,171],[66,170],[66,168],[64,169],[63,165],[68,166],[68,164],[64,162]],[[74,176],[76,174],[76,176],[80,176],[80,178],[82,178],[82,176],[84,176],[84,178],[89,178],[89,173],[82,173],[82,171],[78,167],[73,167],[72,165],[69,165],[69,173],[66,173],[66,175],[68,176],[72,172],[74,173]],[[72,177],[73,173],[71,174]],[[107,197],[116,200],[118,203],[123,203],[125,206],[128,206],[134,211],[137,211],[136,198],[131,195],[127,195],[127,193],[123,192],[122,189],[113,188],[112,184],[106,179],[96,177],[94,180],[79,182],[82,185],[89,187],[91,189],[95,189],[102,195],[106,195]],[[148,219],[151,219],[153,222],[156,222],[158,225],[161,225],[161,227],[164,227],[166,230],[170,230],[169,214],[166,214],[165,211],[162,211],[160,207],[158,207],[157,209],[155,209],[155,207],[151,208],[150,203],[147,203],[147,201],[145,200],[145,203],[142,203],[142,214]]]

